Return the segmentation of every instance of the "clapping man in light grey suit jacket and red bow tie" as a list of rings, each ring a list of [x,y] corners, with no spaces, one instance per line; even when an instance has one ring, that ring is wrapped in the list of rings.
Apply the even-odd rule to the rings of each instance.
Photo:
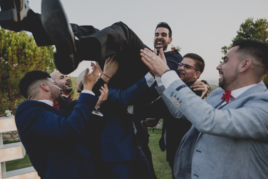
[[[176,154],[176,178],[267,178],[268,90],[261,81],[268,71],[267,43],[234,42],[217,67],[221,88],[205,100],[169,71],[162,51],[158,57],[144,49],[141,56],[161,77],[157,89],[172,115],[193,124]]]

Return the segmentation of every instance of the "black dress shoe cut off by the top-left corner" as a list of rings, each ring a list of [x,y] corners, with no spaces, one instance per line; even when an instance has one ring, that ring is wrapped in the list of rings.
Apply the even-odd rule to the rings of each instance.
[[[23,20],[30,7],[26,0],[0,0],[0,25],[15,32],[23,30]]]

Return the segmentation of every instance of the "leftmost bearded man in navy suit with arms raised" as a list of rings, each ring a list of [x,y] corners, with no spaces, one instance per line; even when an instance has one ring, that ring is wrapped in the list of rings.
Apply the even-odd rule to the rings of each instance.
[[[91,152],[80,138],[99,99],[91,91],[97,76],[96,69],[84,75],[84,90],[71,115],[59,110],[55,101],[63,100],[62,89],[49,74],[31,71],[21,79],[20,92],[28,101],[18,106],[15,122],[41,178],[95,178]]]

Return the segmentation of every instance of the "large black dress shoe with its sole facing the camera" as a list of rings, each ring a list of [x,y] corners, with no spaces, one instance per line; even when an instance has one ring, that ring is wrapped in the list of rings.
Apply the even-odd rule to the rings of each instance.
[[[55,65],[62,74],[74,71],[80,61],[77,57],[76,44],[71,25],[60,0],[42,0],[41,21],[57,53],[54,54]]]

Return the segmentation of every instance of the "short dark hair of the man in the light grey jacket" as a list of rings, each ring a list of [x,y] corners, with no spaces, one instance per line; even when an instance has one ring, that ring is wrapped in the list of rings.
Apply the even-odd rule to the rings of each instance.
[[[239,46],[238,52],[250,55],[255,60],[265,65],[265,71],[268,70],[268,43],[256,38],[243,38],[233,43],[232,47]],[[265,72],[265,73],[266,73]]]

